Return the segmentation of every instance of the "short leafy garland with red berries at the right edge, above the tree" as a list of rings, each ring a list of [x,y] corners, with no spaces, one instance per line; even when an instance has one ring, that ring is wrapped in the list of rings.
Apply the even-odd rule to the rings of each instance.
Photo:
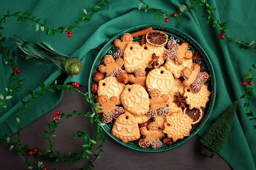
[[[245,77],[245,81],[243,82],[243,85],[244,85],[244,89],[246,90],[245,94],[243,94],[240,99],[243,99],[243,98],[247,98],[247,102],[244,103],[244,108],[245,108],[245,111],[247,111],[246,116],[248,117],[252,117],[250,118],[249,120],[255,120],[256,121],[256,116],[253,115],[253,112],[252,112],[252,108],[251,108],[251,105],[250,105],[250,100],[253,100],[254,97],[253,96],[250,96],[250,94],[253,94],[253,88],[252,87],[249,87],[249,85],[252,85],[250,84],[250,82],[252,83],[252,80],[253,80],[253,77],[252,77],[252,71],[256,69],[256,62],[252,65],[253,68],[250,68],[249,70],[246,71],[246,74],[244,75]],[[254,129],[256,129],[256,125],[253,125]]]

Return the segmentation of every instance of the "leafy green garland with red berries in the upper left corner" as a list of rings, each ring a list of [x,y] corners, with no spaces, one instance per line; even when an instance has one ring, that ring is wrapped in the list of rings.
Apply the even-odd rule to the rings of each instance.
[[[27,20],[31,20],[31,26],[34,27],[36,25],[35,26],[36,31],[39,30],[39,26],[40,26],[42,32],[44,32],[44,29],[46,28],[45,34],[52,35],[52,37],[53,37],[55,35],[55,32],[67,33],[69,31],[72,31],[74,28],[81,28],[79,26],[79,24],[83,20],[90,21],[91,18],[89,17],[89,15],[92,12],[100,11],[101,8],[99,6],[105,7],[104,3],[108,3],[108,0],[99,0],[93,8],[88,6],[89,12],[87,12],[86,9],[83,9],[83,12],[84,12],[83,16],[78,17],[77,20],[75,21],[75,24],[71,24],[68,28],[59,27],[57,29],[47,26],[46,25],[47,19],[44,20],[44,23],[40,23],[41,18],[37,18],[37,16],[32,17],[32,11],[26,11],[22,15],[19,15],[20,11],[15,12],[14,14],[11,14],[10,10],[8,10],[6,14],[0,15],[0,30],[4,29],[4,27],[1,27],[1,25],[2,25],[2,23],[6,22],[6,18],[17,17],[17,21],[20,21],[22,23],[26,23]],[[2,32],[0,32],[0,37],[1,36],[2,36]],[[8,50],[7,47],[4,47],[2,45],[2,42],[5,42],[5,41],[6,41],[6,37],[2,37],[0,39],[0,53],[6,54],[7,57],[6,57],[6,59],[3,59],[3,64],[4,65],[6,65],[8,63],[10,64],[10,66],[12,68],[12,71],[10,72],[10,74],[14,74],[14,76],[12,77],[13,83],[8,88],[6,88],[6,92],[4,92],[3,94],[0,93],[0,110],[7,107],[6,100],[12,98],[12,93],[14,91],[20,92],[19,89],[23,88],[23,84],[21,84],[21,82],[23,82],[25,80],[25,79],[19,79],[18,73],[16,71],[14,71],[15,61],[14,61],[14,59],[10,59],[11,51]],[[15,87],[15,82],[17,82],[16,87]]]

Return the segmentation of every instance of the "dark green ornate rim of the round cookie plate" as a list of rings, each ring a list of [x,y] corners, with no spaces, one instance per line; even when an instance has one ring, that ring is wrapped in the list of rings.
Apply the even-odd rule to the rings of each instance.
[[[148,26],[148,27],[150,27],[150,26],[161,26],[161,27],[170,28],[170,29],[173,29],[173,30],[175,30],[175,31],[177,31],[177,32],[180,32],[181,34],[183,34],[183,35],[185,35],[186,37],[188,37],[189,39],[191,39],[191,40],[201,49],[201,51],[204,53],[204,55],[205,55],[205,57],[206,57],[206,59],[207,59],[207,61],[208,61],[208,63],[209,63],[209,66],[210,66],[211,71],[212,71],[211,77],[214,79],[214,81],[213,81],[213,87],[212,87],[212,88],[213,88],[213,91],[215,92],[215,90],[216,90],[216,88],[215,88],[215,87],[216,87],[216,81],[215,81],[215,73],[214,73],[214,70],[213,70],[213,67],[212,67],[212,63],[211,63],[211,61],[210,61],[210,59],[209,59],[207,53],[204,51],[204,49],[201,47],[201,45],[198,44],[197,41],[195,41],[192,37],[190,37],[188,34],[184,33],[183,31],[180,31],[180,30],[178,30],[177,28],[174,28],[174,27],[171,27],[171,26],[167,26],[167,25],[164,25],[164,24],[142,24],[142,25],[138,25],[138,26],[131,27],[131,28],[127,28],[127,29],[125,29],[124,31],[122,31],[121,33],[116,34],[113,38],[111,38],[108,42],[106,42],[105,45],[101,48],[101,50],[99,51],[99,53],[98,53],[97,56],[95,57],[95,59],[94,59],[94,61],[93,61],[93,64],[92,64],[92,67],[91,67],[91,69],[90,69],[89,80],[88,80],[88,92],[89,92],[89,97],[90,97],[90,98],[91,98],[91,97],[94,97],[94,96],[90,93],[91,75],[93,75],[93,66],[96,64],[96,61],[97,61],[99,55],[102,53],[103,50],[105,50],[105,47],[106,47],[110,42],[112,42],[113,40],[115,40],[117,37],[120,37],[122,34],[126,33],[127,31],[129,31],[129,30],[131,30],[131,29],[138,28],[138,27],[143,27],[143,26],[144,26],[144,27],[145,27],[145,26]],[[132,149],[132,150],[137,150],[137,151],[140,151],[140,152],[147,152],[147,153],[158,153],[158,152],[165,152],[165,151],[168,151],[168,150],[172,150],[172,149],[175,149],[175,148],[177,148],[177,147],[180,147],[181,145],[183,145],[184,143],[186,143],[186,142],[188,142],[190,139],[192,139],[192,137],[194,137],[194,136],[201,130],[201,128],[205,125],[205,123],[206,123],[207,120],[209,119],[209,116],[210,116],[211,113],[212,113],[212,109],[213,109],[213,106],[214,106],[214,103],[215,103],[215,97],[216,97],[216,95],[212,93],[212,97],[213,97],[213,99],[212,99],[212,106],[211,106],[211,108],[209,108],[209,109],[210,109],[210,110],[209,110],[209,115],[207,116],[206,120],[205,120],[204,122],[202,122],[201,126],[198,127],[198,130],[197,130],[195,133],[193,133],[192,135],[188,136],[188,138],[186,138],[186,140],[184,140],[183,142],[181,142],[180,145],[176,145],[176,146],[174,146],[174,147],[170,147],[170,148],[167,148],[167,149],[165,149],[165,150],[157,150],[157,149],[156,149],[156,150],[140,150],[140,149],[137,149],[137,148],[128,146],[128,145],[126,145],[125,143],[123,143],[122,141],[119,141],[119,139],[116,139],[113,135],[107,133],[103,127],[102,127],[102,130],[103,130],[109,137],[111,137],[111,139],[113,139],[115,142],[117,142],[117,143],[119,143],[119,144],[122,144],[123,146],[128,147],[129,149]],[[93,107],[93,104],[92,104],[92,102],[90,102],[90,108],[92,109],[92,107]],[[93,111],[93,113],[96,113],[96,112],[94,111],[94,109],[92,109],[92,111]],[[107,125],[104,125],[104,126],[107,126]]]

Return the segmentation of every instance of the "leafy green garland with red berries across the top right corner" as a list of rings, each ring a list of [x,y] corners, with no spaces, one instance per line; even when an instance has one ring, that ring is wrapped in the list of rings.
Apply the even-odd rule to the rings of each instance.
[[[244,48],[255,48],[256,49],[256,45],[255,45],[255,41],[252,42],[244,42],[240,40],[240,37],[237,37],[236,39],[233,39],[231,37],[227,37],[227,33],[225,32],[226,28],[227,28],[227,22],[220,22],[219,20],[216,20],[214,17],[212,17],[212,13],[216,10],[216,8],[214,8],[213,5],[209,5],[207,3],[207,0],[201,0],[201,2],[198,2],[199,0],[189,0],[188,2],[186,2],[186,5],[182,5],[179,10],[178,10],[178,14],[176,14],[174,11],[172,14],[169,13],[160,13],[161,9],[157,9],[157,8],[152,8],[151,6],[148,6],[148,4],[146,4],[143,0],[140,0],[140,5],[139,5],[139,10],[143,7],[143,5],[145,5],[145,12],[148,11],[148,9],[151,9],[152,11],[155,12],[154,18],[157,17],[157,15],[159,15],[158,20],[162,20],[163,18],[168,18],[169,17],[174,17],[178,22],[180,22],[180,19],[178,16],[185,14],[187,11],[194,10],[196,12],[196,9],[194,8],[194,5],[196,4],[197,6],[205,6],[207,9],[207,14],[203,15],[202,17],[208,17],[207,20],[207,24],[209,24],[210,22],[213,22],[213,27],[216,27],[217,25],[219,26],[219,33],[220,36],[224,35],[223,37],[220,38],[220,40],[224,40],[224,38],[227,39],[227,44],[229,44],[230,42],[236,42],[236,44],[243,46]],[[168,20],[167,20],[168,22]]]

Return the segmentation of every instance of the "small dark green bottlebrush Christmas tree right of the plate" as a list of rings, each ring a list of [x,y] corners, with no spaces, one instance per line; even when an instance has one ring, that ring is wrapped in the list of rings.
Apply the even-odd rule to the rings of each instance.
[[[235,118],[237,101],[233,103],[207,130],[200,142],[204,145],[201,153],[212,158],[214,152],[220,153],[227,141]],[[214,151],[214,152],[212,152]]]

